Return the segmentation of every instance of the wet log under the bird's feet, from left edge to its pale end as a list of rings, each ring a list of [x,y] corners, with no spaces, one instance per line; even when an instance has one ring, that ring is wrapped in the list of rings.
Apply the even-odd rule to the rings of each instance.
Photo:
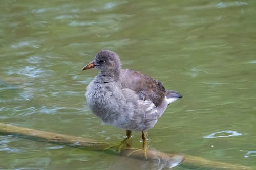
[[[184,160],[184,157],[182,155],[167,154],[154,150],[147,150],[147,159],[145,159],[142,151],[133,152],[137,149],[126,147],[122,148],[120,152],[114,150],[112,146],[116,145],[115,143],[99,142],[82,137],[34,130],[3,123],[0,123],[0,134],[15,135],[37,141],[69,145],[71,147],[85,148],[88,150],[100,150],[108,154],[128,156],[133,159],[139,159],[144,161],[156,161],[158,162],[158,164],[164,165],[165,167],[169,168],[177,166]]]

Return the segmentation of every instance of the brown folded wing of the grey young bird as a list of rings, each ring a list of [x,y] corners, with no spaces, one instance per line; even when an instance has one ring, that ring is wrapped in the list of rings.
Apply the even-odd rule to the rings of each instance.
[[[164,100],[166,90],[160,81],[138,71],[129,69],[122,69],[121,71],[122,88],[136,91],[140,99],[150,99],[156,107]]]

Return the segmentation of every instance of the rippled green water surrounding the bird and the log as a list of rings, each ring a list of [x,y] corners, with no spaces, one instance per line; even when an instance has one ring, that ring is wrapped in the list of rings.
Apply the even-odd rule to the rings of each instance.
[[[256,168],[255,7],[253,1],[1,1],[1,122],[122,140],[125,132],[102,124],[84,99],[97,70],[81,68],[108,48],[123,68],[184,96],[149,131],[150,147]],[[133,134],[139,147],[141,134]],[[8,135],[0,136],[0,157],[1,169],[118,169],[124,162]]]

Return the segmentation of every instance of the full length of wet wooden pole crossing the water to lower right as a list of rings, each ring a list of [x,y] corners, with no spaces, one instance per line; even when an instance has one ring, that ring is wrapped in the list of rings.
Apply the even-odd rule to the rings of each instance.
[[[4,123],[0,123],[0,134],[15,135],[37,141],[69,145],[71,147],[79,147],[88,150],[99,150],[112,155],[127,156],[129,158],[140,159],[144,161],[157,161],[158,163],[160,162],[160,164],[164,165],[164,167],[173,167],[183,162],[183,164],[186,166],[194,167],[208,167],[215,169],[250,169],[249,167],[239,166],[236,164],[210,161],[197,156],[169,154],[151,149],[147,150],[146,160],[142,151],[133,152],[136,150],[133,148],[124,148],[121,150],[121,152],[118,152],[117,150],[113,149],[113,147],[111,147],[113,143],[99,142],[93,139],[34,130]],[[133,153],[131,154],[131,152]]]

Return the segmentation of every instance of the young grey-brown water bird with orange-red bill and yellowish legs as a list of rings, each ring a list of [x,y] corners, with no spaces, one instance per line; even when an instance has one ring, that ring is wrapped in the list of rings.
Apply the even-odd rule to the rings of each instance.
[[[99,73],[86,87],[87,106],[104,123],[125,129],[125,140],[132,131],[141,131],[147,158],[147,131],[182,95],[166,90],[163,83],[139,71],[122,69],[118,54],[110,50],[99,51],[82,70],[92,68]]]

